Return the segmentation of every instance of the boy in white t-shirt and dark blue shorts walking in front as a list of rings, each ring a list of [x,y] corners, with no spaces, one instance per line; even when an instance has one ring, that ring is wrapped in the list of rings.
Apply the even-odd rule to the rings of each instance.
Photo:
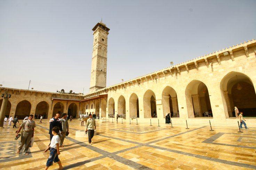
[[[45,150],[47,152],[50,149],[50,156],[46,162],[45,170],[49,168],[49,166],[53,165],[53,162],[57,162],[59,164],[59,169],[63,169],[61,161],[59,160],[58,155],[61,154],[59,152],[59,127],[53,127],[52,132],[54,136],[51,138],[50,146]]]

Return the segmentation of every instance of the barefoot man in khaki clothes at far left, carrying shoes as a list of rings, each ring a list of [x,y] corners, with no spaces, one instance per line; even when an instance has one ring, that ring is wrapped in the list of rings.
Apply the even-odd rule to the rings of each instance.
[[[21,126],[19,126],[18,131],[16,131],[16,137],[18,137],[19,132],[22,129],[21,132],[21,144],[18,147],[18,151],[17,153],[19,153],[23,147],[23,145],[25,144],[25,148],[23,150],[23,154],[24,155],[28,155],[29,153],[27,153],[27,150],[29,149],[29,142],[31,140],[31,137],[33,135],[33,131],[35,128],[35,121],[33,120],[34,115],[29,115],[29,119],[24,120],[21,124]]]

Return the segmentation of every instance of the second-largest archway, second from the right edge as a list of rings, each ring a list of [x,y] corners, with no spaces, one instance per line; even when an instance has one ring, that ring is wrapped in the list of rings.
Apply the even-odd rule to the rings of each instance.
[[[192,80],[185,91],[187,113],[191,117],[212,117],[209,92],[205,83]]]

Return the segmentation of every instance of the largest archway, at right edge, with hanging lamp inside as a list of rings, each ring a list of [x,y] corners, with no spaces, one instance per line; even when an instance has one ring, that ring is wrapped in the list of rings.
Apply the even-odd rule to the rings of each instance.
[[[235,106],[244,117],[256,117],[256,93],[247,75],[230,72],[221,80],[220,88],[226,117],[235,117]]]

